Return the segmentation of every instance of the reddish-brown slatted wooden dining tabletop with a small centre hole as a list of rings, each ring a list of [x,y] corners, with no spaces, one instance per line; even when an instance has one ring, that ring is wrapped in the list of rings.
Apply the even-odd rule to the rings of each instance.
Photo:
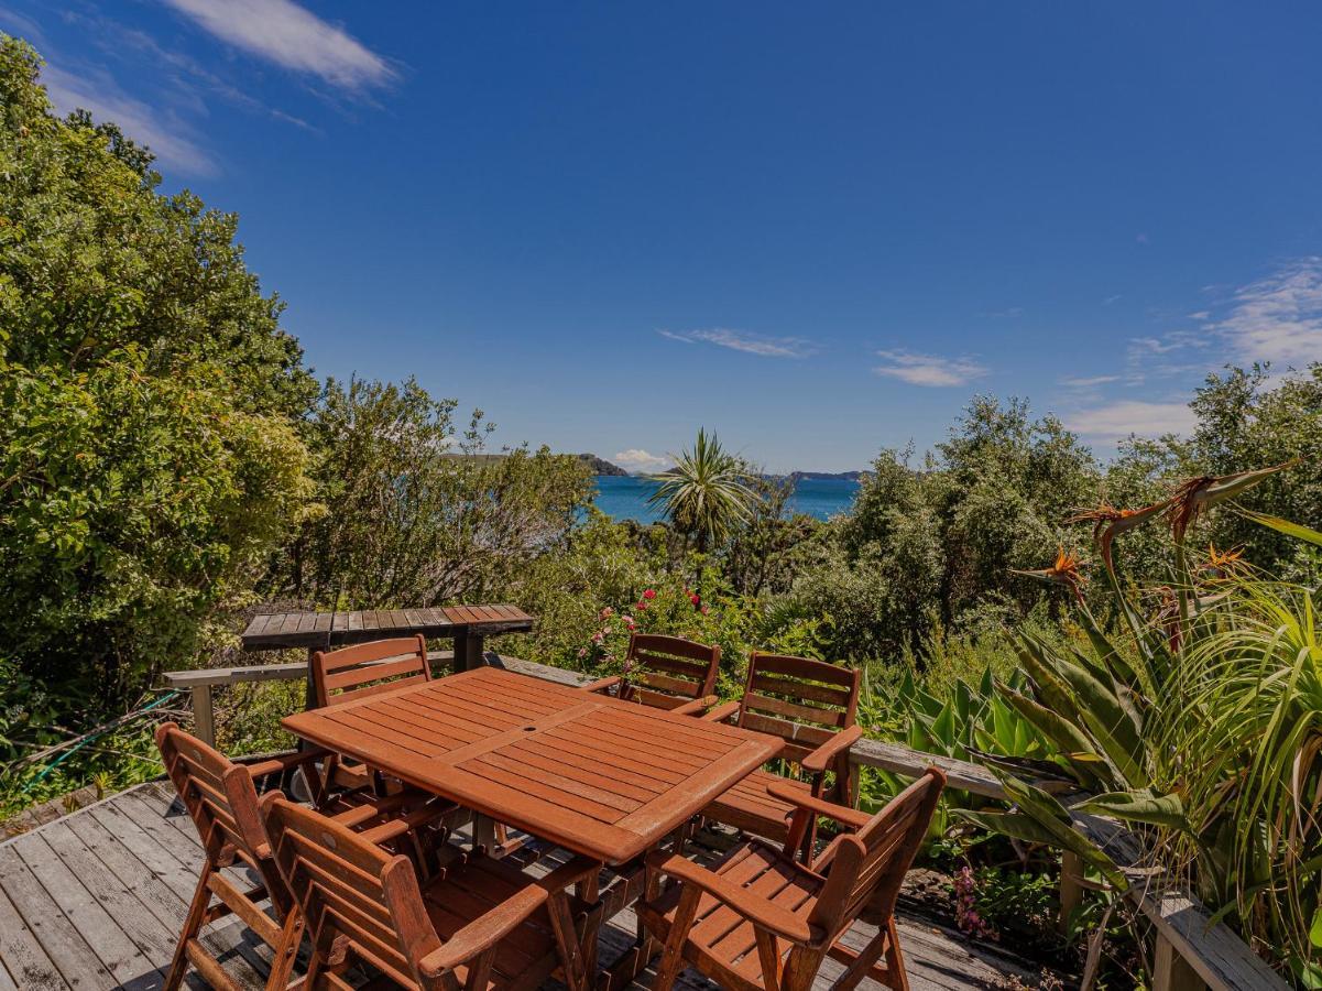
[[[656,847],[783,746],[492,667],[295,713],[283,725],[611,865]]]

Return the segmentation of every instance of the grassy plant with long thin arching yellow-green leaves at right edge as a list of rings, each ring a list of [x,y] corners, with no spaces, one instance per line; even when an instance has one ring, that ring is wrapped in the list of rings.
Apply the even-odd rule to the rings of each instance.
[[[1322,636],[1317,591],[1229,577],[1183,658],[1161,726],[1192,830],[1171,838],[1199,893],[1296,972],[1322,920]]]

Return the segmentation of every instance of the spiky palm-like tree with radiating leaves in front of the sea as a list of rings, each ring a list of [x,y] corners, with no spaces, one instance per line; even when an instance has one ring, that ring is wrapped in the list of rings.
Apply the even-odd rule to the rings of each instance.
[[[756,497],[744,463],[703,429],[693,450],[676,458],[674,468],[658,480],[648,501],[661,505],[672,525],[697,541],[698,550],[724,542],[748,519]]]

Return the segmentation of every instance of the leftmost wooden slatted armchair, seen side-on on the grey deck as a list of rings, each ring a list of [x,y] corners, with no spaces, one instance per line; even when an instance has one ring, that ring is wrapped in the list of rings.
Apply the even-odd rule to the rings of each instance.
[[[291,912],[293,900],[271,860],[258,804],[256,781],[308,766],[308,762],[325,754],[313,750],[254,763],[237,763],[173,722],[157,728],[156,746],[165,762],[165,771],[197,826],[205,856],[164,987],[165,991],[175,991],[192,963],[213,987],[237,990],[238,984],[202,946],[198,934],[204,926],[230,914],[243,920],[272,950],[282,943],[282,922],[286,935],[292,929],[301,933],[297,913]],[[315,773],[308,778],[315,798],[336,810],[334,818],[340,828],[362,830],[360,835],[365,843],[390,844],[401,849],[410,844],[419,856],[423,851],[416,831],[455,811],[455,806],[416,791],[390,798],[362,793],[328,797],[320,791]],[[238,863],[256,873],[259,883],[255,886],[245,890],[226,877],[225,868]],[[213,898],[215,905],[212,904]],[[275,920],[260,908],[260,902],[267,900]],[[295,938],[295,951],[297,945]],[[292,966],[293,953],[287,957],[276,955],[267,986],[284,988]]]

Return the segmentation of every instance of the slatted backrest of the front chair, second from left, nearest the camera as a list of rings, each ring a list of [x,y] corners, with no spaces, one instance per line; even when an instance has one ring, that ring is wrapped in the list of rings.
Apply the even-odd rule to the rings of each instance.
[[[440,938],[408,859],[283,797],[263,804],[275,863],[319,953],[342,937],[362,959],[414,984],[414,962],[440,946]]]

